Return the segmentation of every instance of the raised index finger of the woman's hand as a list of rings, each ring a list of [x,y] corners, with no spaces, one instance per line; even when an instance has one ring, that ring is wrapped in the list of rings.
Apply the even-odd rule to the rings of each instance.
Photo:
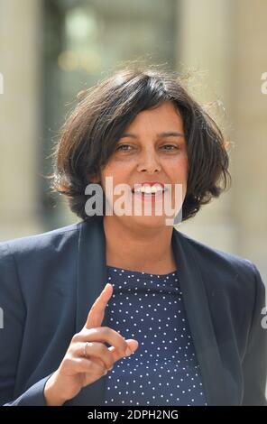
[[[92,308],[90,309],[87,316],[87,322],[85,327],[87,328],[101,327],[104,316],[105,316],[106,305],[108,300],[110,300],[112,293],[113,293],[113,286],[112,284],[107,283],[104,290],[101,291],[97,300],[95,301]]]

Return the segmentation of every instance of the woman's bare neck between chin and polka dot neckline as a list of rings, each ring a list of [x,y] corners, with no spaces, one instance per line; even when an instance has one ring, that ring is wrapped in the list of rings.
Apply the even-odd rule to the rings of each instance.
[[[172,226],[138,228],[104,217],[106,264],[126,270],[165,274],[176,269],[171,248]]]

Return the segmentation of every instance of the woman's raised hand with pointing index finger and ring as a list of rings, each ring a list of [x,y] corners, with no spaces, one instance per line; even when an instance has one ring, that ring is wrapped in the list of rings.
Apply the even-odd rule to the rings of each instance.
[[[107,283],[90,309],[85,326],[72,337],[59,368],[45,385],[47,405],[62,405],[74,398],[87,384],[106,375],[116,361],[137,349],[136,340],[125,340],[114,329],[101,327],[112,293],[113,286]]]

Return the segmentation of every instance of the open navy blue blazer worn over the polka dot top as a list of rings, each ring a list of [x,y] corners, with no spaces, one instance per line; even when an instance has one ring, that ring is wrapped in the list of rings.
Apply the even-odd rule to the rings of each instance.
[[[266,405],[259,272],[176,229],[171,243],[207,404]],[[44,385],[106,282],[102,219],[0,244],[0,404],[45,405]],[[105,384],[65,405],[104,404]]]

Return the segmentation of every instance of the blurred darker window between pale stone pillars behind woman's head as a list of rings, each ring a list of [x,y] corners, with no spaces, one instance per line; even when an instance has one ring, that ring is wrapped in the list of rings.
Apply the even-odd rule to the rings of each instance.
[[[89,88],[127,60],[175,67],[177,0],[45,0],[44,145],[51,152],[78,91]],[[51,160],[43,160],[45,174]],[[63,202],[51,207],[48,183],[41,188],[48,227],[76,220]]]

